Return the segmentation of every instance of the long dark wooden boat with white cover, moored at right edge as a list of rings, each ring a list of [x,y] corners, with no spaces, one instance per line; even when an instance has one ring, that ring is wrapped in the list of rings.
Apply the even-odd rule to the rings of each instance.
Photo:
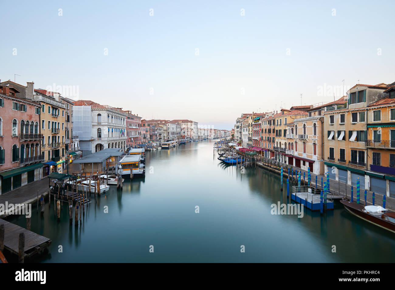
[[[395,213],[381,206],[364,206],[350,200],[340,200],[344,208],[357,217],[395,233]]]

